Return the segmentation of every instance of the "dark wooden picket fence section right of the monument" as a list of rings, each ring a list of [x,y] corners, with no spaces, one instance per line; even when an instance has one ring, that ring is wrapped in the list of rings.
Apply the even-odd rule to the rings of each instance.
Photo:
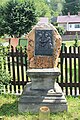
[[[60,54],[59,68],[61,76],[57,82],[66,95],[80,94],[80,46],[64,47]]]

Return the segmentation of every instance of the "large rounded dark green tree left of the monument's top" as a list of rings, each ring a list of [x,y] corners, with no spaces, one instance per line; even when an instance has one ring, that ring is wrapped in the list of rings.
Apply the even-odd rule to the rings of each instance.
[[[29,32],[31,26],[36,23],[33,1],[27,0],[19,3],[17,0],[10,0],[1,8],[0,14],[3,15],[3,20],[0,28],[3,29],[4,26],[4,34],[8,34],[11,37],[20,37],[24,33]]]

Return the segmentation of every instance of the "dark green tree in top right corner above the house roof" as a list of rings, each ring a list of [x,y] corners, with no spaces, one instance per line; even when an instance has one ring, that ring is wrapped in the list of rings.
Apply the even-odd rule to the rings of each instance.
[[[80,11],[80,0],[65,0],[63,4],[62,14],[67,15],[70,12],[72,15]]]

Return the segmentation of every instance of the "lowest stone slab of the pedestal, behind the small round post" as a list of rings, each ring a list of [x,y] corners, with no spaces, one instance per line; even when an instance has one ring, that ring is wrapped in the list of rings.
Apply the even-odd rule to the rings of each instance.
[[[19,103],[18,104],[18,110],[19,112],[31,112],[31,113],[38,113],[40,107],[42,106],[47,106],[50,109],[50,112],[63,112],[63,111],[67,111],[67,103],[54,103],[54,104],[50,104],[50,103]]]

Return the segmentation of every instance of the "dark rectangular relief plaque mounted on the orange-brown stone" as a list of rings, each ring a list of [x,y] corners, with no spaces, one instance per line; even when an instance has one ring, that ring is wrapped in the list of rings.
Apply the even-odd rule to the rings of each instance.
[[[35,55],[53,55],[52,30],[35,31]]]

